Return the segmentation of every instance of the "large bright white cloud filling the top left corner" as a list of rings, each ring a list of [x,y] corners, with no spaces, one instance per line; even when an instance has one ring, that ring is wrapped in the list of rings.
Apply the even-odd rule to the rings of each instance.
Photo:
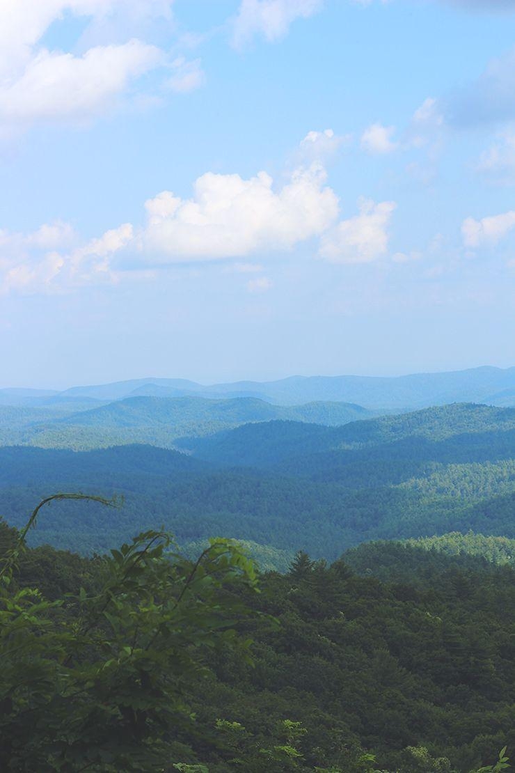
[[[2,0],[0,119],[18,125],[97,115],[134,79],[164,64],[164,53],[137,39],[90,46],[82,56],[40,46],[65,12],[93,22],[169,15],[170,9],[165,0]]]

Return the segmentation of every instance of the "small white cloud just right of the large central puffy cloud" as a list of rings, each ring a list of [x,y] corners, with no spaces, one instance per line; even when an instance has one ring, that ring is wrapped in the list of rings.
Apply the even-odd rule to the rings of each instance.
[[[397,205],[360,199],[359,214],[324,234],[320,257],[330,263],[371,263],[388,249],[388,226]]]

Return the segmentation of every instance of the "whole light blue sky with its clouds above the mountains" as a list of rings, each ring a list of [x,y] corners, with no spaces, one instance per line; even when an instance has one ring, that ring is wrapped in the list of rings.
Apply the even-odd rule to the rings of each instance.
[[[2,0],[0,386],[515,365],[515,0]]]

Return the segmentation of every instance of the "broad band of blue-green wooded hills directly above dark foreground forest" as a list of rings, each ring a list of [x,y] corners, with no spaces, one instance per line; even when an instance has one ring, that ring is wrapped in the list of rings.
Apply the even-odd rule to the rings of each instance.
[[[162,523],[184,546],[213,534],[249,540],[281,568],[296,550],[334,560],[368,540],[515,538],[513,409],[456,404],[343,427],[261,422],[185,445],[195,455],[0,448],[0,513],[20,525],[48,492],[119,495],[109,512],[57,504],[32,539],[87,553]]]

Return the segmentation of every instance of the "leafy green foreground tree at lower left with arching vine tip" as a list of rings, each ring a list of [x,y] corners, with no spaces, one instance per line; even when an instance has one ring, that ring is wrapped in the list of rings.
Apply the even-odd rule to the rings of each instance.
[[[256,587],[252,562],[232,540],[210,540],[188,561],[167,533],[149,531],[103,560],[97,593],[49,601],[15,580],[38,510],[0,571],[0,769],[195,762],[183,740],[193,723],[188,690],[205,674],[208,649],[249,657],[234,628],[247,610],[229,589]]]

